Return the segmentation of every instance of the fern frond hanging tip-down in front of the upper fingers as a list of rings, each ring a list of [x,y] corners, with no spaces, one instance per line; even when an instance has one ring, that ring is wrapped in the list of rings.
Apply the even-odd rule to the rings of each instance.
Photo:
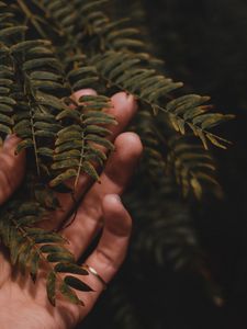
[[[101,110],[110,107],[106,97],[82,97],[83,103],[76,109],[60,112],[57,120],[70,120],[70,124],[57,133],[55,155],[52,169],[56,177],[50,186],[56,186],[65,180],[75,178],[75,188],[81,172],[94,180],[99,175],[94,166],[103,166],[106,156],[96,145],[113,149],[113,145],[105,138],[110,131],[102,125],[116,124],[114,117]]]

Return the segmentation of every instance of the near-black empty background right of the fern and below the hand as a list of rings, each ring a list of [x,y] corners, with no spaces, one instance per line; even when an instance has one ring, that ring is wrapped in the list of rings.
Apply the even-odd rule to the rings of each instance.
[[[126,10],[128,1],[122,3]],[[153,275],[157,281],[149,282],[148,287],[133,286],[135,313],[145,326],[132,319],[128,326],[114,325],[114,313],[105,307],[110,293],[105,293],[81,328],[244,329],[247,327],[247,1],[148,0],[143,4],[154,52],[166,60],[168,73],[184,82],[184,91],[210,94],[220,112],[236,115],[220,132],[233,146],[227,151],[214,150],[225,200],[201,208],[199,205],[195,220],[225,302],[216,307],[206,298],[200,280],[192,274],[167,271],[162,277],[158,273]],[[143,290],[146,298],[139,300],[138,292]],[[130,306],[130,314],[131,310]]]

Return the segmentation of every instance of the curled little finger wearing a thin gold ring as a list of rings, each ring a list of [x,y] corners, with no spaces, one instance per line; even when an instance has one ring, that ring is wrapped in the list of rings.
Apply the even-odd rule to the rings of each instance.
[[[120,269],[127,251],[132,230],[132,218],[124,208],[119,195],[108,194],[102,201],[104,228],[101,239],[87,259],[86,264],[97,271],[105,283],[109,283]],[[81,279],[81,277],[80,277]],[[93,274],[83,276],[93,292],[78,293],[86,308],[80,308],[81,315],[88,313],[94,305],[97,298],[104,288],[102,282]]]

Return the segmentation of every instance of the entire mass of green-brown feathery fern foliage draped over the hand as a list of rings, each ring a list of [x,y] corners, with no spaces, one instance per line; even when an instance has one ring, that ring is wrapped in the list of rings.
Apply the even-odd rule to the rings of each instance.
[[[68,275],[86,275],[87,271],[76,264],[64,238],[37,224],[59,207],[55,191],[74,192],[65,185],[68,179],[74,179],[75,188],[81,173],[99,180],[106,156],[97,146],[113,150],[105,125],[116,122],[103,111],[111,107],[112,92],[126,91],[139,102],[132,126],[145,147],[139,172],[147,190],[153,191],[157,182],[164,184],[151,208],[160,212],[151,230],[161,227],[161,245],[172,242],[171,259],[178,260],[184,245],[193,248],[197,243],[181,229],[181,222],[176,224],[178,230],[171,224],[177,234],[172,240],[169,224],[158,220],[162,217],[159,201],[167,196],[165,175],[176,178],[183,196],[201,198],[204,185],[213,193],[220,189],[207,149],[210,144],[225,148],[227,140],[211,128],[232,115],[211,112],[209,97],[178,91],[182,83],[164,75],[138,30],[128,20],[111,20],[106,7],[105,0],[0,1],[0,137],[3,140],[15,133],[21,137],[16,152],[26,149],[29,159],[25,197],[16,193],[1,209],[0,236],[12,264],[23,273],[29,270],[34,280],[40,260],[46,263],[47,296],[53,305],[58,290],[71,302],[82,303],[74,288],[90,287]],[[89,87],[99,94],[75,102],[72,92]],[[191,134],[202,145],[191,141]],[[149,238],[144,239],[148,242]],[[156,241],[149,247],[157,263],[164,262]],[[187,260],[179,259],[176,266]]]

